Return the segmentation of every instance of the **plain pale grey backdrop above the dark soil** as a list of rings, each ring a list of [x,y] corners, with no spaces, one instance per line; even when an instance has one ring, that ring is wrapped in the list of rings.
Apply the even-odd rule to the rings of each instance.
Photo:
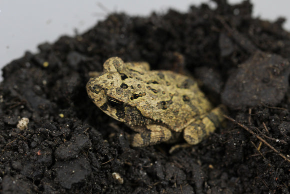
[[[238,3],[240,0],[228,0]],[[289,0],[252,0],[253,16],[275,21],[290,18]],[[148,16],[151,12],[165,13],[168,8],[186,12],[190,5],[214,3],[209,0],[106,0],[106,1],[0,1],[0,68],[21,57],[25,51],[37,52],[37,45],[53,43],[62,35],[83,33],[111,12],[133,16]],[[284,28],[290,30],[290,22]],[[0,76],[1,80],[1,76]]]

